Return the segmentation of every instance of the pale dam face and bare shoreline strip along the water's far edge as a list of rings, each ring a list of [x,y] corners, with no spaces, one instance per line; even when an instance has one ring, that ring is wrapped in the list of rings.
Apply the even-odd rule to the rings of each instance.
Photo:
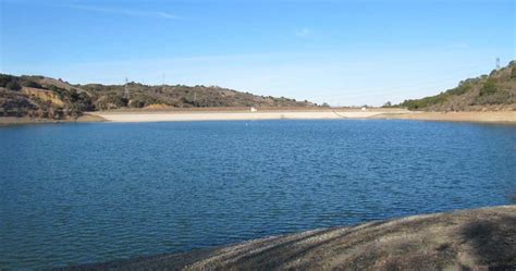
[[[310,110],[116,110],[88,112],[77,120],[38,120],[0,118],[0,125],[69,123],[69,122],[189,122],[189,121],[255,121],[255,120],[416,120],[443,122],[479,122],[516,125],[516,111],[422,112],[403,109],[310,109]]]

